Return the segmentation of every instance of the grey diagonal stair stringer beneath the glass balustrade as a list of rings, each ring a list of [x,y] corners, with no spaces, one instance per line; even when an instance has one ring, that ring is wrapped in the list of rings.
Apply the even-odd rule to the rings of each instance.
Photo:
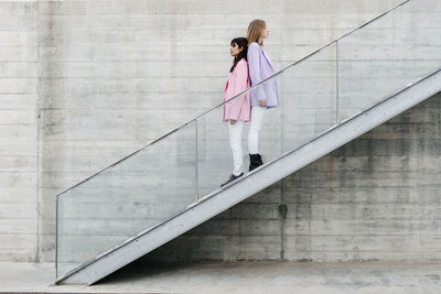
[[[90,285],[99,281],[439,91],[441,68],[243,176],[236,183],[211,193],[174,217],[74,269],[60,277],[56,284]]]

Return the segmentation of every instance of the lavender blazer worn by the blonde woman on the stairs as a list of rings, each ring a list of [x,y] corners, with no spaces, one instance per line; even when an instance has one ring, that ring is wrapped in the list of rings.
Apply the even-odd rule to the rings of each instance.
[[[257,42],[252,42],[249,45],[247,61],[251,86],[276,73],[275,68],[272,67],[271,59],[260,47],[260,45],[257,44]],[[276,78],[272,78],[263,85],[252,89],[250,91],[250,96],[251,106],[258,106],[259,100],[265,98],[267,99],[267,108],[279,106]]]

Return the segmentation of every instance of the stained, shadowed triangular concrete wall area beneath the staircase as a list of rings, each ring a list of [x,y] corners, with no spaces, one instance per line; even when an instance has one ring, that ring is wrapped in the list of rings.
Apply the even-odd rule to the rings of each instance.
[[[441,260],[441,94],[141,262]]]

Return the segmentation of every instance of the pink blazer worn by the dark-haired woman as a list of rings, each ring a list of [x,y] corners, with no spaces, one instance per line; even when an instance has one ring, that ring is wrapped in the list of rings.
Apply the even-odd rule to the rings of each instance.
[[[248,89],[250,87],[250,80],[248,75],[248,64],[243,58],[237,64],[233,73],[229,74],[227,85],[224,90],[224,101],[235,97],[237,94]],[[224,117],[223,121],[244,120],[249,121],[251,118],[251,101],[249,98],[249,91],[233,99],[229,102],[224,104]]]

